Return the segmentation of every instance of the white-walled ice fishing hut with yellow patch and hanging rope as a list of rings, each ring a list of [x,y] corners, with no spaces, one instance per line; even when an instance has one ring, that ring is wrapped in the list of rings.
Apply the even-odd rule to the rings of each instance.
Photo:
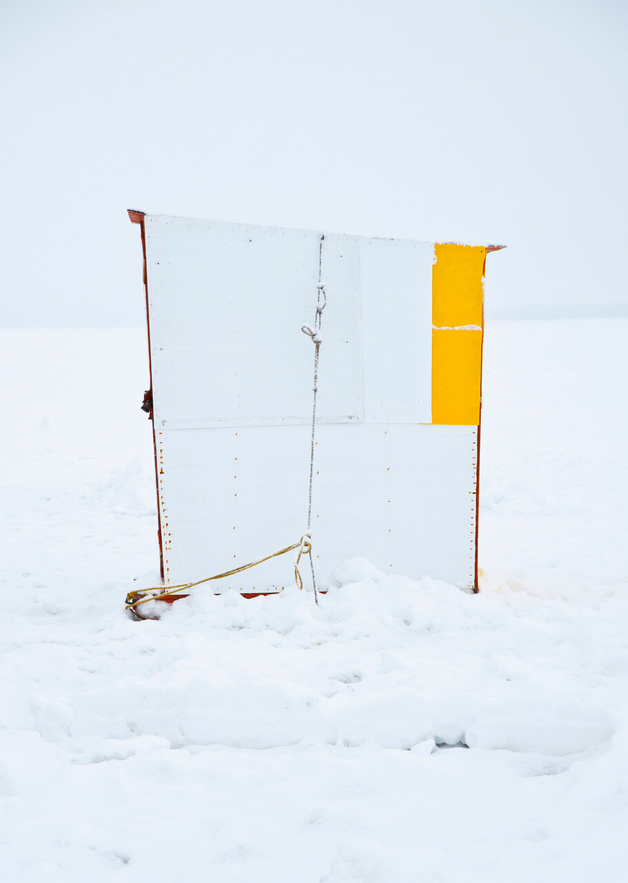
[[[363,557],[477,591],[483,280],[502,246],[129,215],[144,249],[164,585],[303,534],[314,348],[301,331],[316,317],[320,586]],[[211,585],[294,581],[284,555]]]

